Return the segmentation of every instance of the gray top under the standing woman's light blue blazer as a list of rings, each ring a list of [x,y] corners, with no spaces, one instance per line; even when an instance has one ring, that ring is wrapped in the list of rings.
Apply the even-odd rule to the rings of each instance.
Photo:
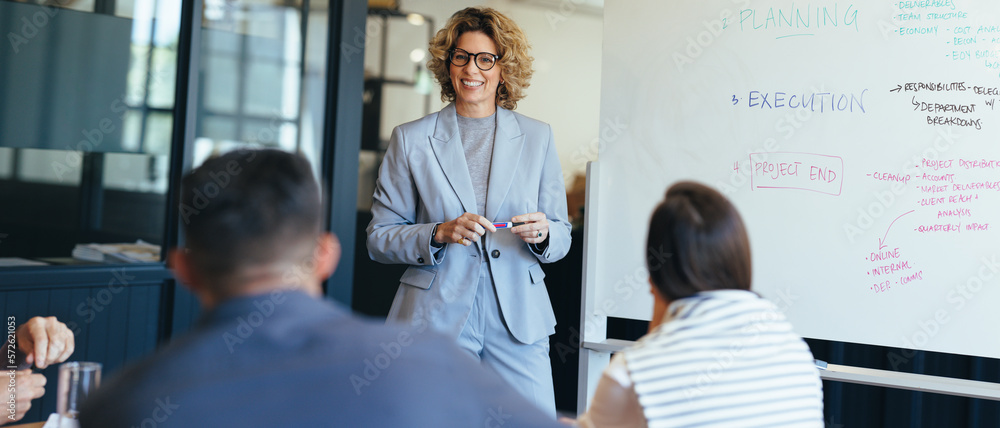
[[[493,160],[493,139],[497,130],[497,114],[483,118],[458,115],[458,131],[469,165],[472,189],[476,192],[476,214],[486,215],[486,189],[490,182],[490,162]]]

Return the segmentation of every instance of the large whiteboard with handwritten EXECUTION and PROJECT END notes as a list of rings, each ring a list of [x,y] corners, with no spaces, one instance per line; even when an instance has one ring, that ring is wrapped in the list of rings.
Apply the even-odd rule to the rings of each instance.
[[[1000,358],[1000,2],[613,1],[604,39],[598,315],[650,319],[697,180],[802,336]]]

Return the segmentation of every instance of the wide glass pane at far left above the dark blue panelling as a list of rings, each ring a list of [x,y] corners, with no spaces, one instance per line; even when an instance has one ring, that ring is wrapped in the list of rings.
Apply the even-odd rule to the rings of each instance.
[[[84,244],[162,243],[180,11],[0,0],[0,257],[79,264]]]

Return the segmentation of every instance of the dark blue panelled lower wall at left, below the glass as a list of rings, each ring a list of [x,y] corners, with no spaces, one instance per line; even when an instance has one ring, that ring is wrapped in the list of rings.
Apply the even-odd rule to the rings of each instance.
[[[3,319],[13,316],[22,324],[35,316],[55,316],[75,335],[69,361],[99,362],[105,379],[178,333],[174,326],[188,328],[197,313],[190,293],[178,290],[162,265],[0,271]],[[58,365],[40,373],[48,380],[46,394],[32,403],[24,422],[55,412]]]

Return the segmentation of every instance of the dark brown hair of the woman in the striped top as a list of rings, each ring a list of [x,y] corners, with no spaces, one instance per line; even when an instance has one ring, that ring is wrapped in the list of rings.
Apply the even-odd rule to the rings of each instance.
[[[674,301],[700,291],[749,290],[750,239],[736,207],[703,184],[667,189],[653,211],[646,242],[653,286]]]

